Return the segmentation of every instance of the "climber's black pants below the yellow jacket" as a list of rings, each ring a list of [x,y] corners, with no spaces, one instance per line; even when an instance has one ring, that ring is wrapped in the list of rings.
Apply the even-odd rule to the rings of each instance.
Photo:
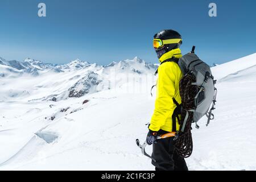
[[[160,130],[159,134],[166,134],[167,131]],[[188,171],[184,158],[180,157],[174,147],[174,137],[158,140],[153,144],[152,161],[156,171]]]

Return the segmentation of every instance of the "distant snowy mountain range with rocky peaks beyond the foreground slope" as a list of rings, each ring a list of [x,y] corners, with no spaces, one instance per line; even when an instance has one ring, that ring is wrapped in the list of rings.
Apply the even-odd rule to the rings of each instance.
[[[0,57],[0,78],[2,77],[2,80],[4,80],[2,84],[9,81],[13,82],[18,77],[24,78],[22,79],[23,82],[28,82],[24,86],[19,85],[17,89],[11,88],[8,90],[4,88],[3,90],[7,90],[1,94],[0,100],[27,98],[29,101],[59,101],[69,97],[82,97],[88,93],[111,89],[111,84],[115,82],[113,79],[117,80],[118,78],[115,77],[118,75],[152,74],[157,68],[158,64],[146,63],[138,57],[134,57],[132,60],[113,61],[109,65],[90,64],[87,61],[81,61],[79,59],[71,61],[68,64],[50,64],[30,58],[24,61],[8,61]],[[40,84],[39,80],[45,82],[46,77],[52,77],[52,82]],[[32,80],[35,80],[35,82]],[[126,78],[121,82],[123,83],[125,80]],[[52,85],[49,89],[55,88],[57,85],[61,86],[50,92],[47,89],[48,85]],[[39,89],[47,89],[47,91],[43,92],[45,94],[42,96],[29,97],[32,96],[31,93],[38,92]]]

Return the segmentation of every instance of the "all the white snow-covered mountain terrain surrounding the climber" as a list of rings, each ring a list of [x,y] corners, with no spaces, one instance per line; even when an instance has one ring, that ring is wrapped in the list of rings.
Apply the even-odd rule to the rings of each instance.
[[[156,68],[138,57],[107,66],[0,58],[0,170],[154,170],[135,139],[146,138]],[[256,53],[212,72],[215,119],[193,126],[188,167],[255,170]]]

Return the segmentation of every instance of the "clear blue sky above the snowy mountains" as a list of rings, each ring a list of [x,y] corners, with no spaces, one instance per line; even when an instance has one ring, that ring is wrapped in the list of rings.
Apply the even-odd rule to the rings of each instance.
[[[38,17],[40,2],[46,18]],[[210,2],[217,17],[208,15]],[[195,45],[201,59],[220,64],[256,52],[255,10],[254,0],[1,0],[0,57],[109,64],[139,56],[158,63],[152,37],[174,29],[183,53]]]

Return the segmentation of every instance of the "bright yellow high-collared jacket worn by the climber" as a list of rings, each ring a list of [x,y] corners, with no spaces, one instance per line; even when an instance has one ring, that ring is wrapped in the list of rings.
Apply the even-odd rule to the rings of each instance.
[[[167,55],[166,55],[167,54]],[[165,56],[163,58],[163,56]],[[160,57],[160,62],[170,59],[172,56],[181,57],[180,49],[173,49]],[[183,73],[175,62],[166,62],[158,68],[158,81],[156,82],[155,110],[152,115],[149,129],[152,131],[172,131],[172,114],[176,105],[172,98],[181,104],[179,82]],[[176,119],[176,129],[180,126]]]

